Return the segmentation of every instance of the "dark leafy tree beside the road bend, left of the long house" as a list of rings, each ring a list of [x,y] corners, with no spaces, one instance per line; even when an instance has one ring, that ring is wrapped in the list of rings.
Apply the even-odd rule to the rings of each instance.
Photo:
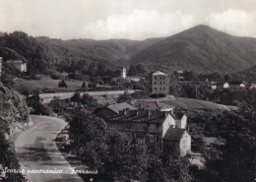
[[[71,115],[72,152],[94,169],[100,168],[105,156],[106,123],[95,115],[77,110]]]

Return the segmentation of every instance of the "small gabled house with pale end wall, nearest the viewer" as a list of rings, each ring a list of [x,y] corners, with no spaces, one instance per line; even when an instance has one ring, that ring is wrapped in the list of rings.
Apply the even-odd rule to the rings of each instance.
[[[191,153],[191,136],[185,129],[169,128],[163,138],[163,152],[176,156]]]

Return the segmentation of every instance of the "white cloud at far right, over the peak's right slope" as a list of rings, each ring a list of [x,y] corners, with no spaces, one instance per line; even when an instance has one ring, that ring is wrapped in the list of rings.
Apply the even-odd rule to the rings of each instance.
[[[211,27],[241,36],[255,36],[255,20],[252,13],[228,9],[222,13],[211,14],[206,22]]]

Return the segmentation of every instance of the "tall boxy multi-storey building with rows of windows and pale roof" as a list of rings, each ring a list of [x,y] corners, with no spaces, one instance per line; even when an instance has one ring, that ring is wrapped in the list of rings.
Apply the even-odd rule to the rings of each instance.
[[[168,75],[157,71],[152,74],[152,94],[167,95],[169,88]]]

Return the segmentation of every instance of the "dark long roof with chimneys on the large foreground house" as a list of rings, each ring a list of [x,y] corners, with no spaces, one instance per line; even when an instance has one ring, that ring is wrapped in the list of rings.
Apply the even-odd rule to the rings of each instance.
[[[141,122],[141,123],[163,123],[165,120],[165,112],[158,110],[127,110],[117,116],[107,117],[108,121],[117,122]]]

